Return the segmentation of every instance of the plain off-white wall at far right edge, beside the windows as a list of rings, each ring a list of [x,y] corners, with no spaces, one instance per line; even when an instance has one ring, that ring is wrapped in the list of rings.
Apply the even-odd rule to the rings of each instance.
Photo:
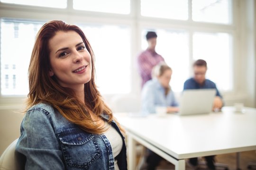
[[[245,105],[256,107],[255,1],[245,0],[244,3],[240,3],[240,8],[243,15],[240,16],[239,90],[246,94]]]

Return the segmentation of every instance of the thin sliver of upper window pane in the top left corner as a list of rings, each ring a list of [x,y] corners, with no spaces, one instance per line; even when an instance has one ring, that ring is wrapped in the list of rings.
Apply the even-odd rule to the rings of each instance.
[[[5,3],[32,5],[39,7],[67,8],[67,0],[0,0]]]

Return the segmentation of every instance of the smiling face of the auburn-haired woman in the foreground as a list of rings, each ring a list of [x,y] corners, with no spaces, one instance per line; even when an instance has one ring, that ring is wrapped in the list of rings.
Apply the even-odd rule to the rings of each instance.
[[[75,31],[59,31],[49,40],[50,76],[73,90],[84,88],[91,80],[91,55]]]

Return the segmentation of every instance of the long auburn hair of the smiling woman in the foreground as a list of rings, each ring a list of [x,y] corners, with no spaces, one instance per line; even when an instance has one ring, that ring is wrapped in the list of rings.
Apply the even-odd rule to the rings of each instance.
[[[84,84],[84,102],[76,99],[72,89],[59,85],[55,76],[49,76],[50,50],[49,40],[58,31],[75,31],[82,38],[86,49],[91,54],[91,80]],[[103,102],[94,80],[94,53],[91,45],[78,26],[69,25],[63,21],[50,21],[41,27],[37,33],[28,68],[29,93],[27,95],[27,109],[43,102],[51,104],[70,122],[78,125],[89,133],[100,134],[106,129],[94,124],[90,113],[101,117],[102,113],[109,115],[109,122],[113,119],[110,108]],[[119,124],[118,124],[119,125]],[[120,127],[120,126],[119,126]],[[122,130],[122,128],[120,128]]]

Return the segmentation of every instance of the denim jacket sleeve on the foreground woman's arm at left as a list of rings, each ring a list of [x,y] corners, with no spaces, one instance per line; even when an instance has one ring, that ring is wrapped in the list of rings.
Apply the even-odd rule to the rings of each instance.
[[[16,145],[26,157],[26,170],[64,170],[62,151],[54,128],[43,110],[27,111]]]

